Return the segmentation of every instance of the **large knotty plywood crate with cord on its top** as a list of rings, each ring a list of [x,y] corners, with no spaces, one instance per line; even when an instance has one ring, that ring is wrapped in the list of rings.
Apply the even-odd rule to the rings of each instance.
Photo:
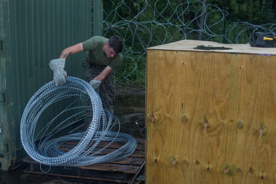
[[[276,48],[182,40],[146,73],[146,183],[276,182]]]

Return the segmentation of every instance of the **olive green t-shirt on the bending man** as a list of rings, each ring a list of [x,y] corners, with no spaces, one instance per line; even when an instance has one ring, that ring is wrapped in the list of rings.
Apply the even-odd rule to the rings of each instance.
[[[103,54],[103,46],[108,42],[107,38],[102,36],[93,36],[89,40],[83,42],[83,51],[90,62],[98,65],[108,65],[110,68],[118,68],[123,61],[123,55],[117,54],[113,58],[106,57]]]

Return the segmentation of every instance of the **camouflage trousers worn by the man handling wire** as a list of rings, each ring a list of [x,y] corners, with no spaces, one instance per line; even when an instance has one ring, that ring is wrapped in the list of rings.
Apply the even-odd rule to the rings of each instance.
[[[90,82],[96,76],[98,76],[103,69],[105,69],[105,65],[97,65],[94,64],[95,68],[92,67],[91,62],[86,57],[83,58],[83,77],[86,82]],[[103,82],[99,87],[99,95],[102,100],[102,105],[104,109],[112,112],[113,114],[113,103],[115,101],[115,69],[105,77]],[[88,102],[88,106],[91,107],[91,101]],[[88,109],[86,111],[86,115],[92,115],[93,110]]]

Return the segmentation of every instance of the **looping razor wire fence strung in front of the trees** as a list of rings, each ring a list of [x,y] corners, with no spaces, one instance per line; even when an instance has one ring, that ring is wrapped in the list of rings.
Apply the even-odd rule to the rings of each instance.
[[[276,29],[273,23],[253,25],[240,20],[226,26],[228,13],[213,4],[204,5],[202,1],[192,0],[177,3],[172,0],[122,0],[115,4],[109,0],[110,6],[104,7],[103,35],[120,35],[125,43],[123,64],[116,70],[117,83],[145,78],[146,48],[198,38],[245,44],[251,42],[251,33],[274,33]],[[200,22],[202,16],[204,19]]]

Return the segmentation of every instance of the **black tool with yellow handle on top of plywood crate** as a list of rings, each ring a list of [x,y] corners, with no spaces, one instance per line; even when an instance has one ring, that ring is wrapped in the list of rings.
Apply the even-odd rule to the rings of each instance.
[[[257,39],[255,39],[257,36]],[[276,47],[276,36],[274,33],[263,33],[263,32],[256,32],[251,34],[252,43],[250,46],[252,47]]]

